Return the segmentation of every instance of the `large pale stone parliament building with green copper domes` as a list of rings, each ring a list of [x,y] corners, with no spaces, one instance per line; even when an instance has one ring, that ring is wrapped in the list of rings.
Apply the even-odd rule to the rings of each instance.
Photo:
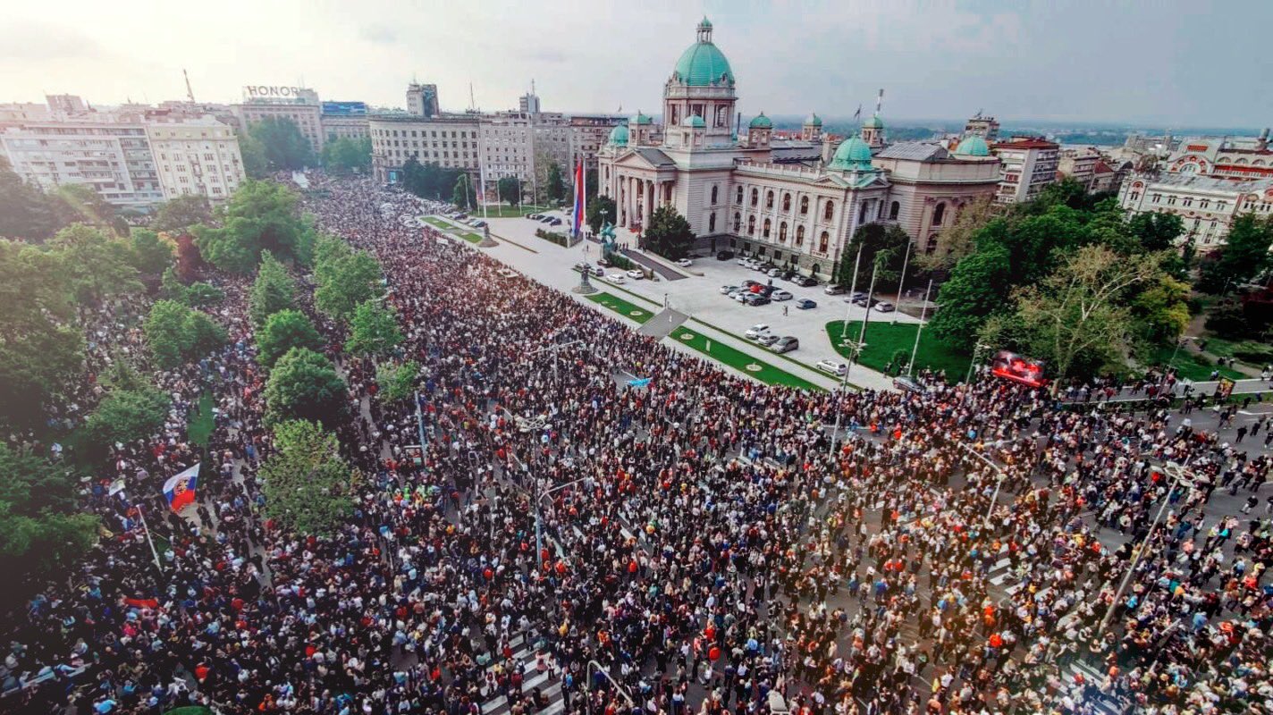
[[[700,251],[728,247],[826,280],[858,226],[894,223],[937,251],[929,237],[998,183],[993,156],[886,145],[878,112],[836,145],[816,113],[797,140],[775,139],[764,112],[740,136],[737,103],[733,69],[704,18],[663,85],[662,130],[638,113],[597,153],[598,187],[617,205],[617,226],[639,233],[671,205]],[[803,153],[787,150],[789,141],[803,142]]]

